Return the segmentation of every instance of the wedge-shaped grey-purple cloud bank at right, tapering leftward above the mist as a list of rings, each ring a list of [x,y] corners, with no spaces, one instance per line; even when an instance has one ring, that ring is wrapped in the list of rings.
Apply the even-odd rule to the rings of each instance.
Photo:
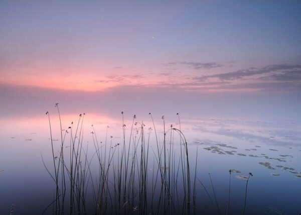
[[[189,91],[300,92],[301,65],[274,64],[215,75],[178,76],[178,82],[162,85]]]

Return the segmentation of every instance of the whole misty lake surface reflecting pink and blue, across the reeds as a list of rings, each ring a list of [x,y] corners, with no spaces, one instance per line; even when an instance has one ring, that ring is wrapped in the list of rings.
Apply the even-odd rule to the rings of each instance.
[[[245,201],[244,214],[300,211],[298,121],[63,114],[61,137],[58,113],[51,110],[52,141],[48,115],[4,117],[0,121],[2,214],[8,214],[12,204],[15,214],[42,214],[49,205],[45,214],[61,214],[62,209],[69,214],[70,202],[74,214],[226,214],[227,208],[228,214],[242,214]],[[80,197],[82,193],[84,197]]]

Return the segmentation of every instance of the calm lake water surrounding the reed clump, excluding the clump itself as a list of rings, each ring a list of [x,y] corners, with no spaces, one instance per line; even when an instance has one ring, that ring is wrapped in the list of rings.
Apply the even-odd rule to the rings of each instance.
[[[119,114],[120,115],[120,114]],[[132,116],[124,115],[125,142],[128,142]],[[60,127],[58,115],[51,114],[53,143],[55,149],[60,146]],[[160,143],[163,143],[163,120],[153,116]],[[151,119],[145,115],[137,116],[135,122],[145,124],[145,133],[149,132],[149,175],[156,166],[156,136]],[[62,115],[62,127],[67,129],[71,122],[77,123],[78,116]],[[179,128],[178,118],[165,118],[166,130],[173,125]],[[85,115],[83,147],[88,152],[93,148],[92,127],[98,141],[105,143],[107,126],[107,148],[123,142],[121,115],[116,119],[105,115]],[[0,211],[8,214],[15,204],[15,214],[41,214],[53,200],[55,184],[45,167],[41,155],[50,171],[53,171],[51,141],[47,116],[2,118],[0,133]],[[139,124],[133,126],[133,131]],[[181,116],[181,130],[188,142],[191,174],[194,175],[196,153],[197,177],[204,183],[214,199],[208,173],[211,174],[221,213],[226,213],[228,201],[229,169],[241,173],[231,174],[231,199],[229,214],[241,214],[244,204],[246,180],[239,176],[253,177],[248,183],[247,205],[245,214],[298,214],[301,211],[301,123],[285,119],[228,119],[220,117],[184,118]],[[110,138],[112,136],[112,138]],[[148,137],[147,134],[145,134]],[[134,137],[134,136],[133,136]],[[170,134],[167,133],[167,148],[170,147]],[[174,140],[174,137],[173,137]],[[69,142],[67,141],[69,144]],[[180,143],[174,140],[173,152],[178,161]],[[67,145],[66,145],[67,146]],[[69,149],[66,148],[66,151]],[[153,151],[154,150],[154,151]],[[120,149],[116,158],[120,157]],[[115,160],[115,162],[117,162]],[[92,174],[97,172],[91,164]],[[113,170],[112,170],[113,171]],[[93,175],[94,177],[94,175]],[[96,173],[95,173],[96,177]],[[151,180],[149,180],[151,181]],[[150,182],[149,182],[150,183]],[[149,185],[150,186],[150,185]],[[113,184],[112,184],[113,187]],[[181,195],[181,189],[179,190]],[[196,182],[198,212],[213,214],[210,200],[202,187]],[[91,200],[91,199],[90,199]],[[214,201],[215,203],[215,201]],[[205,205],[205,206],[204,206]],[[216,208],[215,208],[216,209]],[[52,214],[52,208],[46,213]],[[138,211],[134,211],[138,213]]]

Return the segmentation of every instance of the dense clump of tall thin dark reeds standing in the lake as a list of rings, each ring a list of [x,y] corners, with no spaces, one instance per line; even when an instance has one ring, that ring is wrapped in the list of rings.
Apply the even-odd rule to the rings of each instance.
[[[68,129],[62,129],[58,103],[55,107],[60,126],[59,145],[53,142],[51,119],[49,112],[46,113],[53,170],[46,166],[41,156],[56,191],[43,214],[50,212],[51,205],[52,213],[56,215],[191,214],[192,211],[199,214],[202,205],[198,204],[197,180],[209,196],[213,211],[219,211],[211,177],[216,205],[197,177],[198,152],[193,162],[195,169],[190,171],[189,144],[181,130],[179,114],[178,127],[171,125],[168,130],[162,117],[162,134],[156,128],[152,114],[149,113],[152,126],[146,129],[143,121],[137,121],[136,115],[127,127],[121,112],[121,142],[110,136],[109,126],[104,132],[104,141],[99,141],[92,125],[91,150],[84,142],[85,114],[80,114],[77,123],[72,122]],[[66,141],[69,142],[67,146]]]

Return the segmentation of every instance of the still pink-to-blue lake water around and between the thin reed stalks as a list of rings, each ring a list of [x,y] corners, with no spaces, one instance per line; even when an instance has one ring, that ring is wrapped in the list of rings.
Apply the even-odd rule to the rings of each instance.
[[[52,122],[52,139],[54,144],[55,157],[59,157],[61,144],[60,126],[58,116],[51,116]],[[78,116],[62,116],[62,128],[67,129],[77,124]],[[181,146],[183,141],[180,140],[179,133],[176,130],[171,132],[170,125],[173,128],[180,129],[178,118],[165,119],[166,123],[166,162],[164,167],[164,127],[161,117],[154,117],[159,150],[161,154],[161,168],[158,168],[158,148],[155,135],[155,129],[150,118],[146,119],[143,124],[145,151],[148,146],[147,166],[142,170],[146,175],[145,187],[147,190],[146,199],[147,205],[146,214],[162,213],[164,207],[168,208],[165,212],[179,214],[182,213],[184,200],[184,185],[185,180],[182,175],[181,165]],[[135,122],[141,122],[141,119],[135,119]],[[51,176],[47,173],[41,159],[43,155],[46,166],[53,174],[53,160],[51,151],[51,141],[48,118],[22,118],[22,119],[3,119],[1,124],[0,135],[0,214],[9,214],[12,204],[15,204],[14,214],[42,214],[44,209],[49,205],[56,192],[56,185]],[[91,182],[96,184],[99,179],[99,162],[97,155],[94,154],[94,142],[91,134],[93,128],[97,136],[97,141],[101,147],[100,157],[104,162],[104,155],[108,161],[109,149],[114,151],[110,168],[107,174],[107,190],[112,194],[107,197],[110,205],[112,202],[113,209],[107,209],[107,213],[115,213],[116,200],[114,193],[118,183],[118,165],[120,165],[123,147],[123,130],[122,120],[109,119],[105,116],[89,116],[86,115],[83,123],[82,147],[84,150],[88,147],[87,157],[92,159],[90,164],[90,179],[87,182],[86,205],[87,211],[94,210],[93,191]],[[131,131],[132,119],[126,118],[124,121],[125,129],[125,144],[128,147],[129,136]],[[73,125],[73,126],[74,126]],[[106,138],[106,130],[107,131]],[[135,178],[132,185],[129,185],[128,190],[132,191],[130,197],[134,199],[130,202],[126,199],[122,202],[127,202],[121,205],[122,212],[138,214],[143,213],[139,207],[139,190],[143,187],[139,181],[141,176],[141,129],[140,124],[133,125],[131,144],[129,153],[126,152],[126,158],[135,161],[134,172]],[[239,173],[232,172],[231,174],[231,192],[228,214],[242,214],[245,200],[246,179],[241,176],[248,176],[251,172],[253,177],[248,181],[247,201],[245,214],[298,214],[301,211],[301,200],[299,193],[301,192],[301,136],[299,122],[291,120],[250,120],[250,119],[227,119],[227,118],[195,118],[181,119],[181,131],[187,139],[187,149],[189,153],[189,164],[191,174],[191,205],[193,205],[193,189],[195,176],[196,153],[198,152],[195,196],[196,196],[196,211],[198,214],[206,211],[209,214],[218,214],[218,209],[221,214],[226,213],[229,191],[229,169],[238,170]],[[75,134],[73,128],[73,134]],[[169,131],[168,131],[169,130]],[[149,134],[150,132],[150,134]],[[79,134],[79,133],[78,133]],[[75,138],[76,135],[74,135]],[[112,136],[112,138],[111,138]],[[79,135],[75,140],[81,140]],[[149,139],[148,139],[149,137]],[[64,143],[64,153],[66,161],[70,162],[70,133],[66,136]],[[95,139],[94,139],[95,141]],[[142,139],[143,141],[143,139]],[[102,143],[100,143],[102,142]],[[112,144],[112,145],[111,145]],[[117,145],[120,144],[120,145]],[[136,144],[136,145],[135,145]],[[114,147],[117,145],[116,147]],[[68,147],[69,146],[69,147]],[[72,145],[71,145],[72,146]],[[136,147],[136,154],[134,147]],[[142,147],[143,148],[143,147]],[[113,151],[111,151],[112,153]],[[170,153],[172,152],[172,153]],[[127,156],[128,155],[128,156]],[[133,156],[135,155],[135,156]],[[156,156],[154,156],[156,155]],[[184,160],[185,154],[182,154]],[[169,158],[171,161],[169,161]],[[123,157],[124,159],[124,157]],[[144,158],[145,159],[145,158]],[[186,159],[186,158],[185,158]],[[143,160],[143,159],[142,159]],[[58,158],[56,159],[58,164]],[[170,162],[170,163],[169,163]],[[84,164],[84,160],[83,163]],[[102,163],[104,165],[104,163]],[[145,163],[144,163],[145,164]],[[185,162],[184,162],[185,164]],[[69,164],[68,164],[69,165]],[[66,166],[68,166],[66,165]],[[107,166],[106,163],[104,166]],[[124,164],[123,164],[124,165]],[[129,165],[129,166],[130,166]],[[180,167],[179,167],[180,165]],[[143,165],[142,165],[143,166]],[[185,165],[184,165],[185,166]],[[186,168],[186,167],[184,167]],[[161,170],[160,170],[161,169]],[[87,169],[86,169],[87,170]],[[157,171],[159,172],[157,174]],[[184,170],[186,171],[186,170]],[[101,171],[100,171],[101,172]],[[164,205],[164,195],[162,195],[161,173],[166,174],[166,181],[170,184],[171,198],[174,203],[168,203],[168,195]],[[187,172],[186,172],[187,173]],[[218,208],[211,186],[210,173]],[[121,173],[124,176],[124,173]],[[173,179],[177,178],[177,185]],[[121,181],[124,181],[122,176]],[[92,179],[92,180],[91,180]],[[157,179],[157,184],[155,184]],[[129,177],[127,181],[129,181]],[[206,187],[212,203],[206,194],[203,186],[199,182],[202,181]],[[121,182],[123,184],[123,182]],[[67,187],[69,187],[70,184]],[[115,188],[116,189],[115,189]],[[157,187],[154,189],[154,187]],[[94,189],[97,185],[94,185]],[[163,188],[165,190],[165,188]],[[153,192],[152,192],[153,191]],[[166,191],[164,191],[166,193]],[[67,188],[66,205],[70,204],[70,188]],[[122,193],[122,192],[121,192]],[[177,194],[178,193],[178,194]],[[161,194],[161,198],[160,198]],[[154,195],[154,196],[153,196]],[[152,211],[150,203],[156,205],[156,202],[162,202],[161,209]],[[132,203],[132,204],[131,204]],[[186,202],[187,203],[187,202]],[[115,206],[114,206],[115,205]],[[140,204],[141,206],[141,204]],[[66,206],[68,208],[68,206]],[[68,209],[66,208],[66,211]],[[127,208],[127,209],[124,209]],[[52,214],[53,206],[51,205],[45,214]],[[193,207],[190,211],[193,213]]]

